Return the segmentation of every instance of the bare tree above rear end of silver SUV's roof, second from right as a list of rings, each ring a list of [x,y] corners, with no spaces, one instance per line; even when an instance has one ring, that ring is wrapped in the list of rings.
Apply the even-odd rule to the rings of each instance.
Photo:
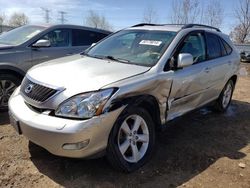
[[[213,27],[220,27],[223,21],[223,12],[224,10],[222,8],[221,1],[209,1],[205,10],[206,19],[203,20],[203,23]]]

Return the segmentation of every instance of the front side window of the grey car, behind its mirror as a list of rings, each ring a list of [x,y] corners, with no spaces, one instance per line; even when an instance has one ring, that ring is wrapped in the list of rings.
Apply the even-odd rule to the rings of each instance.
[[[41,39],[49,40],[51,47],[66,47],[69,46],[69,30],[56,29],[47,33]]]

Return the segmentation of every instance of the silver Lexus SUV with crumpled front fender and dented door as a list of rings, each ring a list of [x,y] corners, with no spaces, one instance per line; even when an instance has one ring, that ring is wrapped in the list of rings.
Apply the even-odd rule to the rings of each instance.
[[[239,62],[217,28],[139,24],[29,70],[9,101],[11,124],[55,155],[106,154],[131,172],[168,121],[211,102],[228,108]]]

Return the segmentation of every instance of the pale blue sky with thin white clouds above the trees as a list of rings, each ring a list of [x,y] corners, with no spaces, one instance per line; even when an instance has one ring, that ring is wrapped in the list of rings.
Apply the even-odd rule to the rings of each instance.
[[[170,23],[171,0],[0,0],[0,13],[8,17],[13,12],[24,12],[31,23],[44,23],[45,13],[50,10],[51,23],[59,23],[58,11],[65,11],[66,23],[84,24],[88,10],[104,15],[115,30],[142,22],[147,7],[157,11],[158,22]],[[206,0],[201,0],[206,4]],[[229,33],[237,24],[234,10],[239,0],[221,0],[224,9],[222,31]]]

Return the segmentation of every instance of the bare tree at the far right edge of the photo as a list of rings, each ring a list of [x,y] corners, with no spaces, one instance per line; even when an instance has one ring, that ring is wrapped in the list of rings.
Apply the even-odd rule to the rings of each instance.
[[[250,0],[240,0],[239,7],[235,10],[235,13],[239,24],[230,33],[230,36],[237,43],[249,42]]]

